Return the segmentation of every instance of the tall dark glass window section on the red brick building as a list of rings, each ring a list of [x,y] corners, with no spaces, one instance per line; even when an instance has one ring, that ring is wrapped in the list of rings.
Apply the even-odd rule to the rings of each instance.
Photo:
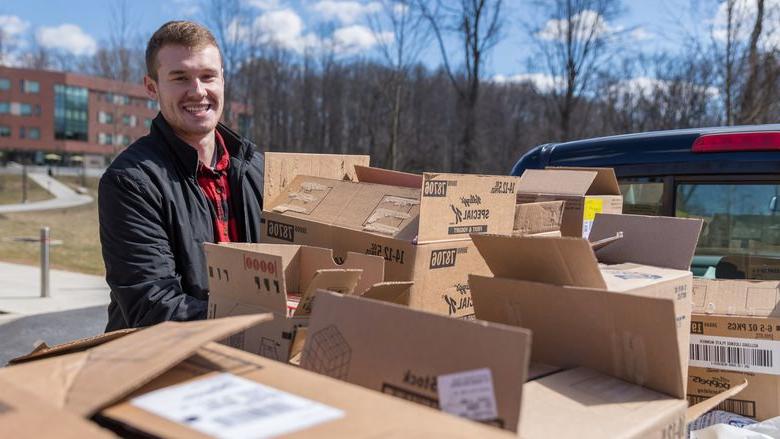
[[[89,96],[86,88],[57,84],[54,86],[54,138],[81,140],[89,138],[87,127]]]

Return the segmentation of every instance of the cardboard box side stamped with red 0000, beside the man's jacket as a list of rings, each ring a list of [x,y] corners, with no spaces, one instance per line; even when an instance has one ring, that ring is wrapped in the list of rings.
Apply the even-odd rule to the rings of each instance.
[[[204,244],[212,297],[287,312],[287,292],[298,289],[301,246]],[[238,251],[237,251],[238,250]],[[290,272],[290,276],[287,273]]]

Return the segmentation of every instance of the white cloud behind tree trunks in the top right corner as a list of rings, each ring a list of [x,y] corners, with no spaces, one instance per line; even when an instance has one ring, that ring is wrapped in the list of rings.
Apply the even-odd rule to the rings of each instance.
[[[733,37],[738,41],[748,41],[756,20],[757,6],[755,0],[734,0],[732,12]],[[718,5],[712,19],[713,37],[725,42],[728,37],[728,2]],[[764,5],[764,22],[762,37],[759,41],[765,50],[780,48],[780,0],[766,0]]]

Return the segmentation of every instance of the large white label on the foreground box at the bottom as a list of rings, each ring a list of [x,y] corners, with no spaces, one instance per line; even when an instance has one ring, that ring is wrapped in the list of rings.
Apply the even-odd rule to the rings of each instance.
[[[218,438],[267,438],[338,419],[344,412],[223,373],[171,386],[130,403]]]

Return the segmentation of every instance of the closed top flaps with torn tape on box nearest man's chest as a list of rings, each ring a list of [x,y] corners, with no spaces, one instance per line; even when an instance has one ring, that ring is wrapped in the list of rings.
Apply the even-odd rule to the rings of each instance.
[[[286,217],[411,241],[417,236],[420,189],[298,176],[265,209]],[[278,237],[279,233],[269,235]]]

